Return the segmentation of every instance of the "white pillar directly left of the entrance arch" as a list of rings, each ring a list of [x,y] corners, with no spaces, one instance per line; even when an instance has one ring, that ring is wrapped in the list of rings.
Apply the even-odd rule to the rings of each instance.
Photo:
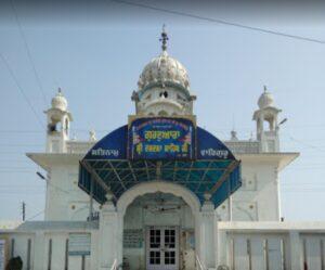
[[[110,270],[122,262],[122,217],[116,211],[113,194],[106,195],[100,216],[100,270]]]

